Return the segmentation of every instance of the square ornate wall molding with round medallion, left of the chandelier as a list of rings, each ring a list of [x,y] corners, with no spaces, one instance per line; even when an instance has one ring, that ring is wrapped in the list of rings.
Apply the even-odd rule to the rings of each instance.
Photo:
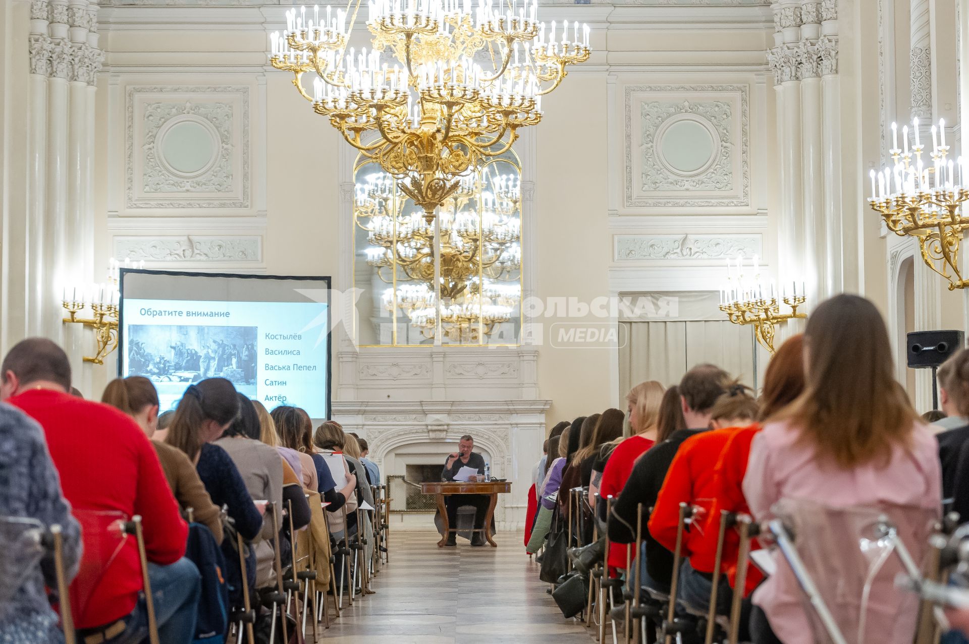
[[[125,205],[248,209],[250,89],[245,85],[129,86]]]

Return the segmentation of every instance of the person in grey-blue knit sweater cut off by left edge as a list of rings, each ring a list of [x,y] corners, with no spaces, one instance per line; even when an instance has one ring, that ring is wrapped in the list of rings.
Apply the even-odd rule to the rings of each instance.
[[[78,572],[80,528],[61,494],[60,479],[45,445],[44,431],[35,420],[20,410],[0,403],[0,530],[10,539],[17,526],[6,525],[8,518],[31,527],[32,521],[42,529],[58,525],[64,535],[64,562],[67,580]],[[57,626],[57,614],[47,601],[44,587],[55,588],[54,569],[47,561],[33,569],[17,570],[17,553],[12,541],[3,545],[0,554],[3,583],[19,586],[5,589],[12,596],[0,602],[0,642],[18,644],[60,644],[64,634]],[[6,557],[14,561],[6,562]],[[26,566],[28,564],[24,564]],[[8,567],[9,566],[9,567]],[[22,573],[16,574],[16,573]]]

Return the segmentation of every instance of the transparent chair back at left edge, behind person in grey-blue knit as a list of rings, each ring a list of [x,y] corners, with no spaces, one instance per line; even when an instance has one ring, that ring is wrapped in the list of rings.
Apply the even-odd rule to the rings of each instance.
[[[14,608],[16,592],[40,569],[45,532],[37,519],[0,516],[0,623]]]

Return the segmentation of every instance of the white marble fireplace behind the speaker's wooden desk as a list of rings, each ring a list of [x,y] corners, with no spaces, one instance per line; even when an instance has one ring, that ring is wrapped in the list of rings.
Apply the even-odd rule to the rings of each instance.
[[[525,523],[532,466],[549,401],[538,398],[537,352],[527,347],[362,347],[338,352],[333,418],[367,440],[382,475],[444,464],[470,434],[491,475],[512,481],[495,510],[499,530]]]

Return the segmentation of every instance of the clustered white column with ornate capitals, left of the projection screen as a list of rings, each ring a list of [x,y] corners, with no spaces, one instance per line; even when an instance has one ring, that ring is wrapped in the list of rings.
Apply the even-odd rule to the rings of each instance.
[[[32,0],[29,39],[25,331],[64,343],[81,388],[90,368],[80,358],[94,340],[79,325],[65,329],[60,299],[94,276],[97,11],[91,0]]]

